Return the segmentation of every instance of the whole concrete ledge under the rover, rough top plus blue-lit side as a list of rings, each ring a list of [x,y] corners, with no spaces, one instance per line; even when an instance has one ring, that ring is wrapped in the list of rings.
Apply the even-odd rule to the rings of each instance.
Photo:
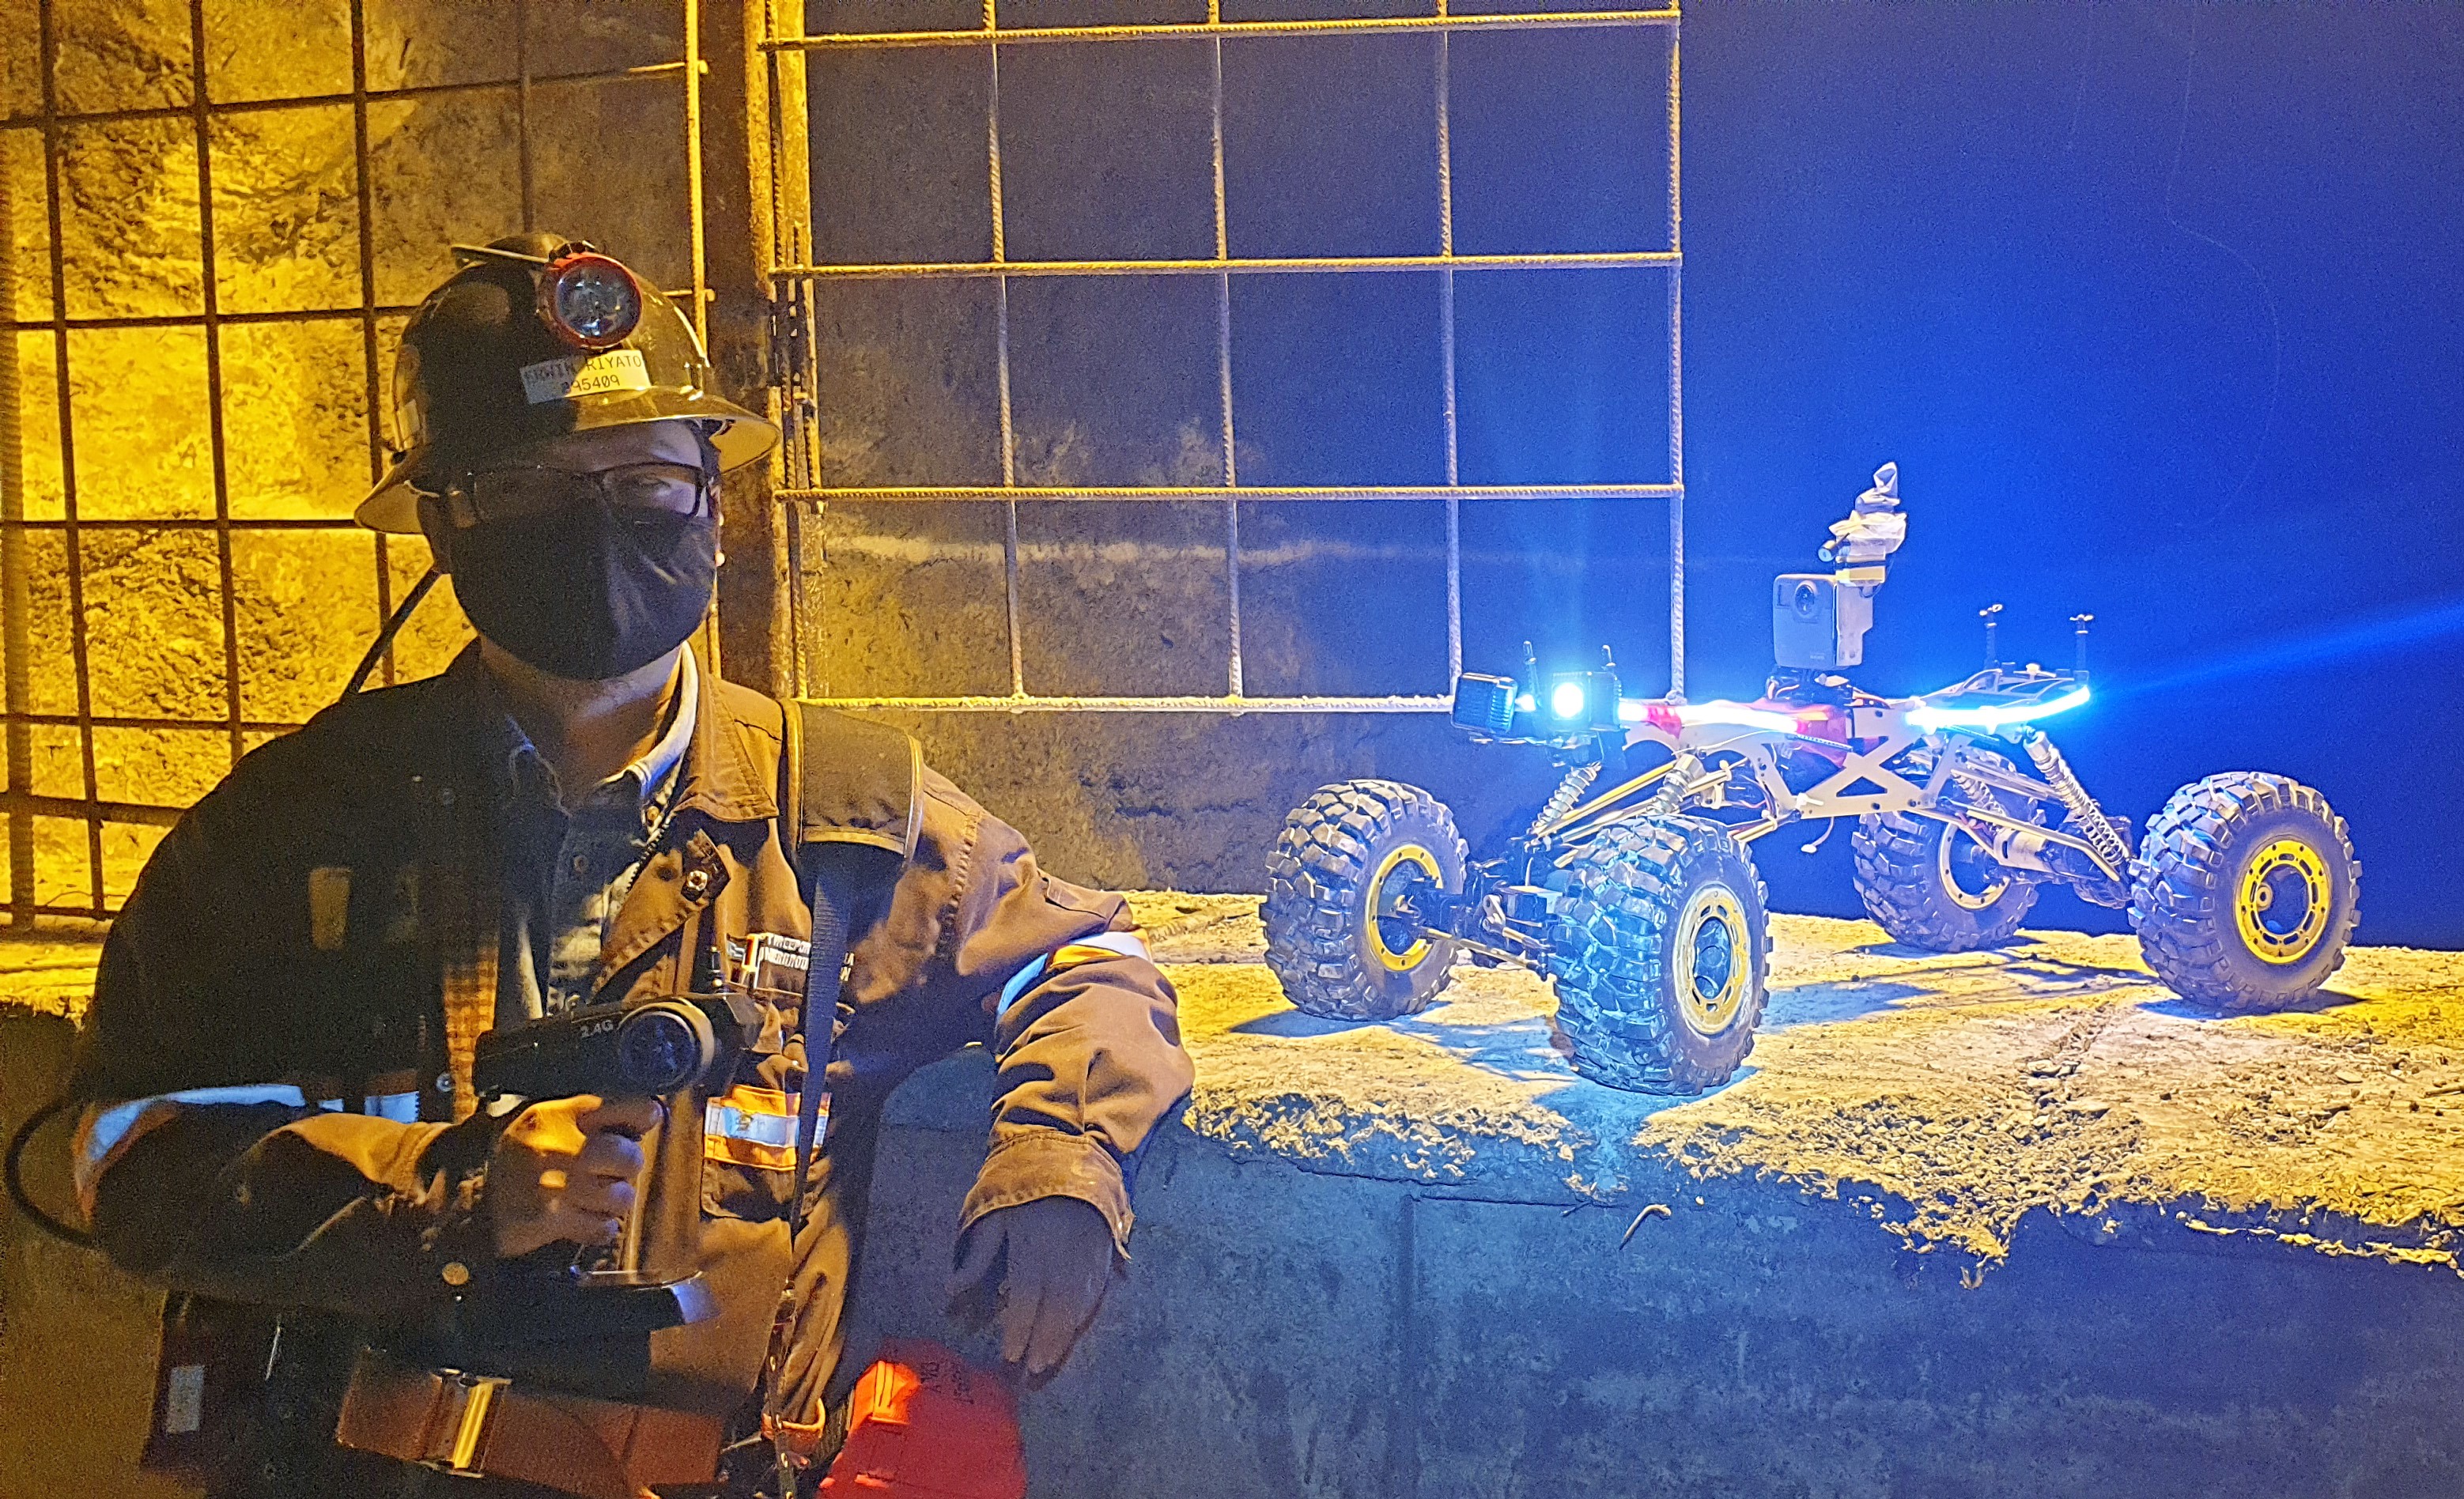
[[[1200,1085],[1035,1494],[2464,1492],[2452,954],[2218,1021],[2117,939],[1781,920],[1759,1070],[1671,1102],[1574,1080],[1520,976],[1326,1026],[1244,907],[1148,925]],[[857,1354],[991,1358],[939,1302],[991,1090],[892,1100]]]

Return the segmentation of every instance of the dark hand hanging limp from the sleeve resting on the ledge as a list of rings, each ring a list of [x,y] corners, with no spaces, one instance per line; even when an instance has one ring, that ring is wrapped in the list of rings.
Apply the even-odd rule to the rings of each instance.
[[[1077,1198],[995,1208],[966,1230],[951,1314],[1000,1321],[1000,1356],[1042,1378],[1069,1358],[1114,1277],[1111,1223]]]

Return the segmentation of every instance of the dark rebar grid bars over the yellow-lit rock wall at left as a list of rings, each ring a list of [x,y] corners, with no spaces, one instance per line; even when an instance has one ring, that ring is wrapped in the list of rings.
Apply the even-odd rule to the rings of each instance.
[[[207,0],[187,2],[187,76],[185,94],[180,104],[143,104],[143,106],[116,106],[116,108],[69,108],[62,99],[62,5],[64,0],[39,0],[37,5],[37,67],[39,67],[39,108],[17,111],[0,116],[0,148],[20,138],[37,138],[42,153],[42,224],[44,224],[44,249],[47,264],[47,301],[49,316],[30,318],[22,316],[17,306],[17,229],[15,210],[10,195],[17,187],[15,173],[0,170],[0,333],[10,338],[10,353],[17,362],[0,377],[0,658],[5,658],[5,705],[0,705],[0,735],[5,735],[7,747],[7,786],[0,791],[0,811],[7,814],[7,907],[15,927],[30,927],[39,917],[81,917],[81,920],[108,920],[126,895],[126,875],[133,868],[133,858],[106,860],[106,836],[118,831],[138,831],[150,848],[150,838],[160,836],[163,828],[175,823],[185,811],[175,799],[128,799],[106,796],[103,779],[96,754],[99,735],[197,735],[214,732],[222,737],[227,759],[237,759],[261,742],[264,737],[288,732],[298,727],[298,720],[269,720],[251,717],[244,713],[244,673],[241,673],[241,634],[244,624],[239,616],[239,582],[234,577],[234,552],[246,545],[251,535],[271,533],[350,533],[352,520],[345,515],[254,515],[254,505],[234,503],[246,500],[241,481],[234,476],[234,446],[227,431],[227,402],[229,402],[229,355],[227,343],[232,330],[251,328],[308,328],[308,325],[333,325],[333,323],[357,323],[357,357],[362,372],[362,402],[365,402],[365,464],[367,478],[382,473],[387,464],[387,422],[384,422],[384,390],[382,390],[382,328],[389,318],[402,318],[411,306],[399,301],[379,301],[379,254],[377,254],[377,180],[372,165],[372,133],[370,111],[387,108],[411,101],[448,101],[456,96],[510,96],[513,99],[513,136],[517,155],[517,182],[520,182],[520,222],[522,229],[535,227],[537,202],[532,182],[532,138],[535,138],[535,96],[557,91],[601,86],[601,84],[648,84],[648,86],[678,86],[683,84],[685,96],[685,182],[687,182],[687,222],[690,222],[690,286],[673,291],[680,303],[692,308],[695,325],[705,325],[707,316],[707,288],[705,288],[705,254],[702,254],[702,202],[700,202],[700,81],[702,62],[697,47],[700,12],[697,0],[683,0],[678,7],[678,35],[683,39],[683,57],[673,62],[636,64],[636,67],[611,67],[589,71],[535,71],[532,69],[532,0],[510,0],[508,10],[515,27],[515,69],[513,76],[488,76],[468,81],[431,81],[431,84],[404,84],[389,89],[370,86],[370,0],[350,0],[350,89],[347,91],[301,91],[276,96],[244,96],[244,99],[214,99],[217,76],[222,67],[212,59],[209,49],[209,5]],[[246,91],[246,89],[241,89]],[[217,158],[224,145],[217,143],[217,128],[232,118],[306,118],[310,111],[350,111],[350,197],[357,210],[355,227],[355,293],[350,301],[335,301],[333,306],[296,306],[281,311],[264,308],[227,308],[224,306],[224,256],[217,254]],[[79,313],[71,316],[69,293],[69,232],[74,224],[76,207],[71,205],[69,185],[64,182],[67,150],[71,133],[86,138],[99,126],[143,126],[160,123],[165,128],[180,128],[187,141],[185,148],[195,150],[195,247],[197,266],[202,276],[197,308],[180,313]],[[503,232],[500,224],[468,224],[471,232]],[[118,247],[94,247],[101,254],[116,254]],[[121,330],[177,330],[195,333],[202,340],[205,353],[205,422],[207,422],[207,466],[212,481],[212,510],[207,515],[163,515],[163,518],[126,518],[126,515],[91,515],[81,505],[79,481],[79,436],[86,439],[86,449],[101,446],[101,434],[91,424],[106,422],[108,417],[96,417],[94,412],[81,412],[74,385],[74,345],[79,335],[96,333],[121,333]],[[25,441],[25,367],[22,335],[49,333],[49,375],[52,392],[49,404],[57,417],[57,515],[30,515],[27,513],[27,441]],[[81,431],[81,422],[84,427]],[[148,434],[113,431],[118,444],[143,444]],[[212,594],[209,614],[219,624],[219,673],[222,693],[217,713],[197,715],[128,715],[106,713],[96,705],[96,673],[94,673],[94,626],[96,626],[96,599],[89,587],[89,542],[96,535],[128,535],[133,542],[143,545],[153,537],[177,537],[177,535],[202,535],[212,537],[212,577],[207,592]],[[49,713],[34,708],[34,668],[49,668],[52,663],[34,661],[34,631],[30,629],[30,579],[37,570],[37,557],[32,555],[34,542],[47,547],[42,562],[49,562],[57,552],[57,562],[67,582],[67,643],[69,643],[69,678],[74,680],[74,710]],[[367,621],[367,636],[377,631],[377,624],[394,607],[394,565],[389,550],[399,550],[399,542],[387,537],[372,537],[375,552],[375,611]],[[155,634],[170,634],[172,626],[163,621],[143,621],[153,626]],[[365,639],[350,641],[318,641],[318,648],[330,653],[347,666],[357,658]],[[382,680],[394,680],[394,658],[387,653],[382,663]],[[47,794],[37,789],[34,767],[34,735],[37,732],[74,732],[76,762],[79,762],[79,794]],[[64,819],[84,823],[84,870],[44,868],[37,853],[37,819]],[[138,856],[143,853],[136,851]],[[108,865],[108,875],[106,875]],[[44,895],[44,888],[54,895]],[[57,890],[67,888],[69,895]]]

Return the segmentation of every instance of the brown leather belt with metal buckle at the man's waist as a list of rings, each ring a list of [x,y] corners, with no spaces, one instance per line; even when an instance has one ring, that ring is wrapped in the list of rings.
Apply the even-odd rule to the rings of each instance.
[[[458,1368],[409,1368],[362,1349],[335,1440],[458,1477],[540,1484],[584,1499],[646,1499],[710,1484],[722,1423],[687,1410],[530,1391]]]

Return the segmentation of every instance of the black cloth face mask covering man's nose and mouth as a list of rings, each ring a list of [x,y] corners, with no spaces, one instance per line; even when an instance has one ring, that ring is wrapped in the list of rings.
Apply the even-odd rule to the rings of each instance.
[[[719,523],[584,500],[453,533],[453,594],[515,658],[604,680],[685,641],[710,611]]]

